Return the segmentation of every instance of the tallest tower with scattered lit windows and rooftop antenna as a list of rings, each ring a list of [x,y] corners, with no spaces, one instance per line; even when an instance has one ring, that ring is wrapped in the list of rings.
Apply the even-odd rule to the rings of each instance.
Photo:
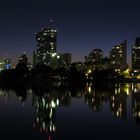
[[[37,64],[52,66],[57,60],[57,31],[49,27],[36,34]]]

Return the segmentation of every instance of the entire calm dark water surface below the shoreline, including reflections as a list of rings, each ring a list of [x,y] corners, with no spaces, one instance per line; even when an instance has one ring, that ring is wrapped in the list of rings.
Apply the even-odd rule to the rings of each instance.
[[[42,94],[42,95],[40,95]],[[0,139],[139,139],[140,85],[0,89]]]

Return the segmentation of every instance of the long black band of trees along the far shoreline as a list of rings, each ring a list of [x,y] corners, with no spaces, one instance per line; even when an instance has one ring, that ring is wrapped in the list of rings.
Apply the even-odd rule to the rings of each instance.
[[[24,63],[17,64],[15,69],[3,70],[0,73],[0,86],[18,87],[50,87],[50,85],[63,86],[85,86],[87,82],[92,82],[97,86],[106,83],[125,83],[132,82],[125,76],[119,75],[115,70],[95,70],[86,76],[86,70],[78,70],[75,65],[71,65],[68,69],[60,67],[52,69],[49,66],[39,64],[35,68],[29,70]]]

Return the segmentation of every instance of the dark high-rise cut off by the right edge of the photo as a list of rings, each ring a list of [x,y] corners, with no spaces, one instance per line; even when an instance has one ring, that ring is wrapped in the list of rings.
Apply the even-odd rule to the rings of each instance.
[[[136,38],[135,44],[132,47],[132,71],[140,71],[140,38]]]

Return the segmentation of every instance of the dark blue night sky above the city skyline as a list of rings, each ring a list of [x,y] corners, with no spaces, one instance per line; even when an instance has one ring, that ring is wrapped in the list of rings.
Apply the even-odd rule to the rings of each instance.
[[[35,32],[50,26],[58,30],[58,52],[70,52],[83,60],[92,49],[108,56],[111,48],[128,40],[130,49],[140,37],[139,0],[1,0],[0,58],[13,63],[36,50]]]

